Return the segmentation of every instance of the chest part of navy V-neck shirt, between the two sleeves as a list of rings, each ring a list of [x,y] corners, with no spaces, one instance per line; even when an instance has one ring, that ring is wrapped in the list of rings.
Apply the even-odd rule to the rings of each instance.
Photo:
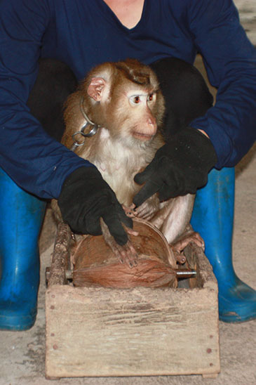
[[[168,56],[194,60],[185,15],[175,0],[144,0],[140,20],[130,29],[103,0],[53,4],[54,17],[43,37],[41,55],[65,61],[78,79],[106,61],[137,58],[149,64]]]

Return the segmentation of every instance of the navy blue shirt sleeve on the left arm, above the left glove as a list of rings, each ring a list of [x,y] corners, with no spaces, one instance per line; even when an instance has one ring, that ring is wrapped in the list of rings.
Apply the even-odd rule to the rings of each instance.
[[[91,164],[50,138],[26,105],[49,18],[47,0],[0,1],[0,165],[29,193],[58,198],[65,178]]]

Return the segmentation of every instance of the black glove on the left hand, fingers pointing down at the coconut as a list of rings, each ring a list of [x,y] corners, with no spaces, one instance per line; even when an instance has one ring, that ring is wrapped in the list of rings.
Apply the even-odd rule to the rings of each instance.
[[[72,172],[62,185],[58,204],[64,221],[77,233],[100,235],[100,217],[118,244],[126,244],[128,236],[121,222],[132,228],[114,191],[96,167],[81,167]]]

